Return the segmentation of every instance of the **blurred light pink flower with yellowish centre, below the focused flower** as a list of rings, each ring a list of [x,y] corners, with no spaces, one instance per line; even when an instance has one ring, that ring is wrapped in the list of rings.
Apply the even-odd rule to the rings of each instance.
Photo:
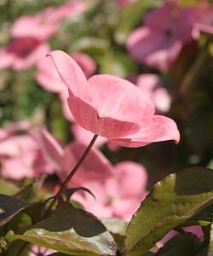
[[[85,183],[84,186],[95,195],[96,201],[88,193],[76,193],[72,198],[98,218],[116,217],[130,221],[147,195],[147,171],[131,161],[120,162],[114,168],[113,175],[104,181],[94,182],[91,179]]]

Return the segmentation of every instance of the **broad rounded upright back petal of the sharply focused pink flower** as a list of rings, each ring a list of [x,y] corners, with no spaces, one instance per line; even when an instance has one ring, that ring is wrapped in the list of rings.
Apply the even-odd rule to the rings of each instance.
[[[102,74],[91,77],[88,83],[93,105],[116,113],[120,119],[137,123],[155,111],[153,101],[128,80]]]

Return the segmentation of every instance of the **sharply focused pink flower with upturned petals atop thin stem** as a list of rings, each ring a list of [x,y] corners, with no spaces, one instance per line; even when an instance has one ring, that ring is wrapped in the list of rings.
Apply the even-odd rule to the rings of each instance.
[[[49,54],[69,89],[68,105],[84,129],[125,147],[180,140],[176,123],[154,114],[153,102],[134,84],[112,75],[86,79],[78,64],[63,51]]]

